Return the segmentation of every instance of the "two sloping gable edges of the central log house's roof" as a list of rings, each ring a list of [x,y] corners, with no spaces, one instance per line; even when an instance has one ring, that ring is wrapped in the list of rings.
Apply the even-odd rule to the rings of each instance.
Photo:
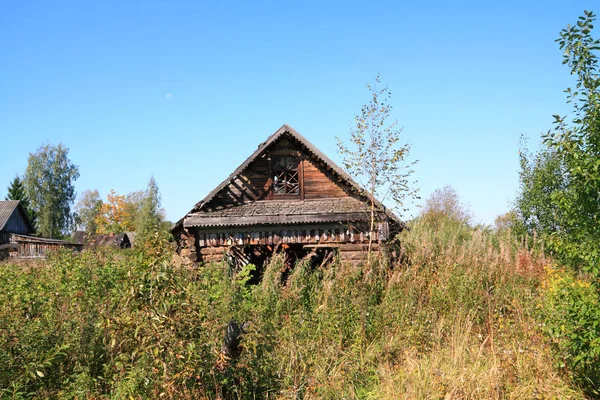
[[[302,136],[298,131],[296,131],[291,126],[284,124],[281,128],[275,131],[271,136],[267,138],[263,143],[261,143],[258,148],[248,157],[239,167],[235,169],[223,182],[221,182],[216,188],[214,188],[204,199],[200,200],[196,205],[188,212],[183,218],[175,223],[172,231],[177,231],[181,227],[183,227],[184,219],[190,214],[201,211],[202,208],[208,204],[211,200],[213,200],[219,192],[229,185],[238,175],[243,173],[246,168],[252,164],[253,161],[258,159],[265,151],[267,151],[271,146],[277,143],[280,139],[286,137],[291,139],[292,142],[299,144],[304,150],[308,153],[309,156],[323,163],[331,172],[341,178],[341,181],[346,183],[353,191],[355,191],[356,196],[360,196],[365,200],[368,200],[364,193],[366,191],[354,180],[352,177],[344,171],[341,167],[339,167],[335,162],[333,162],[329,157],[323,154],[319,149],[317,149],[312,143],[308,141],[304,136]],[[388,218],[392,221],[396,222],[401,229],[406,229],[406,224],[400,220],[391,210],[387,209],[381,202],[377,199],[375,200],[375,206],[379,211],[382,211],[386,214]]]

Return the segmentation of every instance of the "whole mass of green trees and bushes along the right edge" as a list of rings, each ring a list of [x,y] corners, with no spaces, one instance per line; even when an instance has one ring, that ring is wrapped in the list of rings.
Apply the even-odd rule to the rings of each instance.
[[[543,291],[542,316],[559,366],[587,394],[600,395],[600,40],[585,11],[557,42],[576,77],[567,89],[573,119],[555,116],[537,154],[521,153],[516,206],[524,230],[556,257]]]

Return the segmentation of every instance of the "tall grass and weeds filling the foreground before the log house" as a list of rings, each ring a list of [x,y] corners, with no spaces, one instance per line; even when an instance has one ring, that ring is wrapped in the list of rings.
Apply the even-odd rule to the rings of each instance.
[[[581,398],[541,334],[547,263],[510,235],[416,221],[401,264],[190,270],[134,252],[0,267],[6,398]],[[221,352],[247,322],[238,359]]]

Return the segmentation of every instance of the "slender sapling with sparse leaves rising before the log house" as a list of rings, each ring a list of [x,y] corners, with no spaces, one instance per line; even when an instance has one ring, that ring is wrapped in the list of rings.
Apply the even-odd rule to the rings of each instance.
[[[380,75],[375,78],[376,86]],[[415,162],[406,163],[410,145],[400,144],[403,128],[396,120],[389,122],[392,106],[388,87],[378,89],[367,84],[371,100],[362,106],[354,117],[349,144],[337,138],[338,151],[344,157],[344,167],[362,185],[362,193],[370,203],[370,234],[368,262],[375,236],[377,200],[385,201],[388,196],[394,208],[406,211],[406,200],[416,198],[416,190],[409,185]]]

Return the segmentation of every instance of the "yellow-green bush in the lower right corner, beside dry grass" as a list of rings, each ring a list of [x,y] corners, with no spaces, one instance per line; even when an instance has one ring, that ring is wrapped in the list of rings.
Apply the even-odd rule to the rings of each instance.
[[[600,293],[589,280],[549,268],[541,304],[559,367],[586,392],[600,395]]]

